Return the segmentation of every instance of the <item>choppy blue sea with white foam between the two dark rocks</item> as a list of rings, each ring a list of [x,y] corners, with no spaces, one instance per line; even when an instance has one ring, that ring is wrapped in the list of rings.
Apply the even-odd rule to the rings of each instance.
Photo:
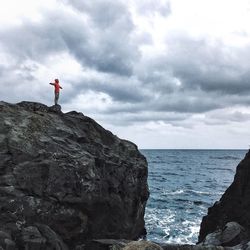
[[[195,244],[201,219],[247,150],[141,150],[148,161],[147,239]]]

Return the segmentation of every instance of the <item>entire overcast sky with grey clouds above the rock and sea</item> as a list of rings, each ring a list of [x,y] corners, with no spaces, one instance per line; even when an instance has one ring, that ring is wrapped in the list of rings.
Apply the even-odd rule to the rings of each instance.
[[[1,0],[0,99],[92,117],[139,148],[250,145],[250,0]]]

